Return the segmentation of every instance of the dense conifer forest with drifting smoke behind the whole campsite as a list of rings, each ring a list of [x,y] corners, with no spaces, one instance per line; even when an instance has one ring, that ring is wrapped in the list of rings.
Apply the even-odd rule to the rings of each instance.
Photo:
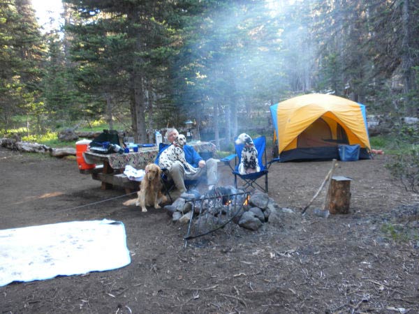
[[[416,117],[412,0],[63,0],[61,27],[0,0],[0,129],[43,133],[103,119],[138,142],[191,119],[214,136],[267,126],[307,93]],[[236,134],[237,135],[237,134]]]

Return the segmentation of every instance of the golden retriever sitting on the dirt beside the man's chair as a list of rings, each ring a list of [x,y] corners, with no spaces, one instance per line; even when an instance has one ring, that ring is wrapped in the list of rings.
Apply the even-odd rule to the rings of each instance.
[[[125,206],[133,205],[141,207],[141,211],[147,211],[146,206],[154,206],[154,208],[161,208],[159,203],[164,203],[167,198],[161,193],[161,169],[154,163],[149,163],[145,167],[145,177],[141,181],[140,190],[138,191],[138,198],[127,200],[123,204]]]

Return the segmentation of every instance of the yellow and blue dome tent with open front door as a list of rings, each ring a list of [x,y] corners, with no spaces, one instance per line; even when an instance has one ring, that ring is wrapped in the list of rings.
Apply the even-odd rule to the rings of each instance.
[[[270,106],[280,161],[339,159],[339,145],[360,145],[371,158],[365,105],[328,94],[307,94]]]

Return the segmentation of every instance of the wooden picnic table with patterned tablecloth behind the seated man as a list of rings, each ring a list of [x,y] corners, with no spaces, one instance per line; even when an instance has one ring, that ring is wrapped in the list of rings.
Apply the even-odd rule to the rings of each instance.
[[[213,156],[216,147],[211,142],[191,142],[189,143],[198,154],[204,159]],[[113,186],[125,188],[126,193],[138,190],[138,181],[131,181],[123,173],[126,165],[131,165],[135,169],[145,169],[149,163],[154,163],[159,147],[138,147],[138,152],[126,154],[98,154],[93,151],[84,151],[84,160],[87,163],[95,163],[96,167],[90,170],[80,170],[82,174],[91,174],[94,180],[102,182],[101,188],[108,190]],[[205,157],[204,157],[205,156]]]

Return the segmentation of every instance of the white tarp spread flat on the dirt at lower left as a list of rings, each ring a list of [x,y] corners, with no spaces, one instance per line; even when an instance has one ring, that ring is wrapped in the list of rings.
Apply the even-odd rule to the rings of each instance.
[[[124,267],[131,262],[124,224],[73,221],[0,230],[0,287]]]

